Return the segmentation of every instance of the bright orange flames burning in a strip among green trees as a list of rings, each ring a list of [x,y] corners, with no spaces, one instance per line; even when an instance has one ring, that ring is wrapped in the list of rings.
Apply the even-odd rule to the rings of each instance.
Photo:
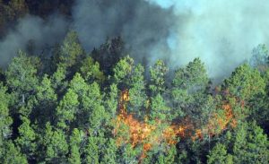
[[[147,123],[146,120],[138,121],[135,119],[132,114],[126,112],[126,103],[129,100],[128,90],[121,91],[119,114],[113,134],[117,137],[118,146],[123,143],[131,143],[133,148],[137,145],[143,145],[141,160],[146,157],[147,151],[150,151],[154,145],[158,145],[161,142],[166,142],[169,145],[176,144],[178,137],[181,139],[203,140],[204,134],[213,136],[221,133],[228,125],[236,125],[230,104],[224,104],[221,106],[221,109],[224,111],[224,117],[214,114],[213,118],[208,121],[208,125],[205,125],[203,129],[195,128],[192,121],[186,117],[178,124],[165,126],[161,133],[155,133],[157,130],[160,130],[158,127],[163,123],[160,120],[156,120],[152,125]]]

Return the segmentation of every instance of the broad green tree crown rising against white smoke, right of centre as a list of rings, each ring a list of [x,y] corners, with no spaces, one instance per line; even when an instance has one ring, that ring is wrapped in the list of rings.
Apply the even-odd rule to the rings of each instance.
[[[207,99],[205,93],[209,83],[204,63],[199,58],[195,58],[186,67],[179,68],[175,72],[170,89],[175,115],[178,117],[186,115],[198,117],[197,113],[199,114],[201,111],[200,106]]]

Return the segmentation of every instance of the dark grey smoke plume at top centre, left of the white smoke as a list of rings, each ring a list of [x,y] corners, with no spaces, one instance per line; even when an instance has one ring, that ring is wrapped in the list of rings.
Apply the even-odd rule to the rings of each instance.
[[[74,30],[88,51],[121,36],[136,60],[169,55],[167,39],[176,20],[172,10],[143,0],[77,0],[73,16]]]

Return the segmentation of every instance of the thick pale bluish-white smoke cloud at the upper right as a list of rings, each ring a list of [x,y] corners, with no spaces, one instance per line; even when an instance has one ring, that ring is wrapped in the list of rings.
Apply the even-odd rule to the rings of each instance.
[[[260,43],[268,45],[267,0],[147,0],[178,16],[171,30],[171,64],[186,65],[200,57],[213,78],[226,75],[251,56]],[[184,20],[184,22],[182,22]]]

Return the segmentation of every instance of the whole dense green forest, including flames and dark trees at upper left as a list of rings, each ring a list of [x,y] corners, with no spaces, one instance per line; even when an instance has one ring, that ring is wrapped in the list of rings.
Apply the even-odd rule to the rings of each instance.
[[[72,3],[0,0],[0,36],[27,13],[68,16]],[[49,55],[18,49],[0,70],[0,163],[269,162],[265,45],[214,83],[200,58],[169,69],[135,61],[125,44],[89,53],[69,30]]]

